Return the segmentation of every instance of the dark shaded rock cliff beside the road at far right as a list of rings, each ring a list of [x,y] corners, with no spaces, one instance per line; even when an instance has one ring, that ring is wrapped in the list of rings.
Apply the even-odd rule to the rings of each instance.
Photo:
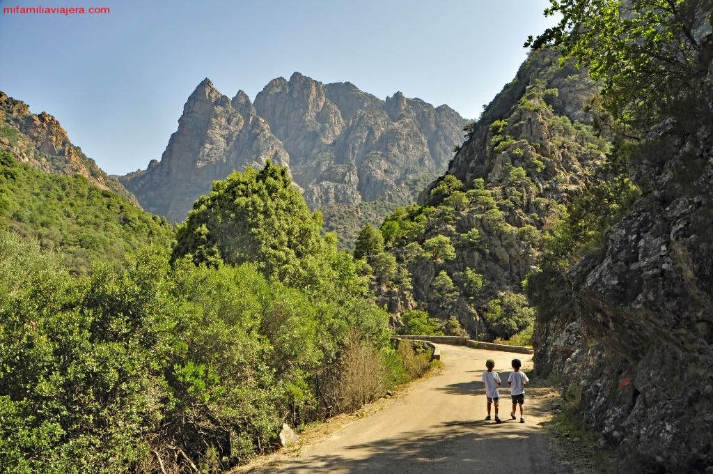
[[[712,79],[707,114],[645,136],[640,198],[566,273],[570,306],[537,328],[536,367],[565,374],[600,443],[642,472],[713,472]]]

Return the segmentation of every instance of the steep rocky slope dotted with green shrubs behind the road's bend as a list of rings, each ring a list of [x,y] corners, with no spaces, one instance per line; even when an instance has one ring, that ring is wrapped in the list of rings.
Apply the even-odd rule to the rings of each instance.
[[[543,237],[604,158],[607,141],[585,111],[596,90],[584,71],[560,69],[555,53],[530,56],[469,127],[448,173],[421,193],[421,207],[381,227],[401,268],[397,288],[382,288],[384,304],[456,316],[471,336],[495,336],[483,334],[488,304],[522,293]],[[453,254],[439,258],[431,239],[442,236],[441,251]]]

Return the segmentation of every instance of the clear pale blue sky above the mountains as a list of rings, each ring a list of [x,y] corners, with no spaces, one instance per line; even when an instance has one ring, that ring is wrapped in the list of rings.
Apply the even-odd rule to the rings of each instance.
[[[250,99],[294,71],[396,91],[475,119],[513,79],[522,44],[552,24],[547,0],[0,0],[108,7],[5,14],[0,91],[56,116],[107,173],[160,159],[183,104],[208,77]]]

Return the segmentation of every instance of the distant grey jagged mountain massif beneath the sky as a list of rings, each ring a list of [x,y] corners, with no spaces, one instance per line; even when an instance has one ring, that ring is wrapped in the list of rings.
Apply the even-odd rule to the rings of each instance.
[[[294,73],[270,81],[255,104],[230,100],[207,79],[191,94],[160,162],[121,181],[146,209],[182,221],[212,181],[271,159],[289,166],[311,208],[414,198],[462,141],[465,121],[397,93],[386,101],[349,83]],[[417,192],[417,191],[416,191]]]

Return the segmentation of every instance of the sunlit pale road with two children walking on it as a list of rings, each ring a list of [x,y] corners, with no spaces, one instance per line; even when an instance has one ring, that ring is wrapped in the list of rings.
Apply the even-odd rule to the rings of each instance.
[[[240,473],[568,473],[547,450],[540,433],[540,401],[525,399],[525,423],[510,419],[508,374],[513,358],[531,356],[440,346],[443,369],[411,385],[381,410],[354,420],[299,450]],[[485,421],[481,374],[496,360],[501,380],[501,419]],[[525,387],[525,393],[528,393]],[[526,395],[527,396],[527,395]]]

